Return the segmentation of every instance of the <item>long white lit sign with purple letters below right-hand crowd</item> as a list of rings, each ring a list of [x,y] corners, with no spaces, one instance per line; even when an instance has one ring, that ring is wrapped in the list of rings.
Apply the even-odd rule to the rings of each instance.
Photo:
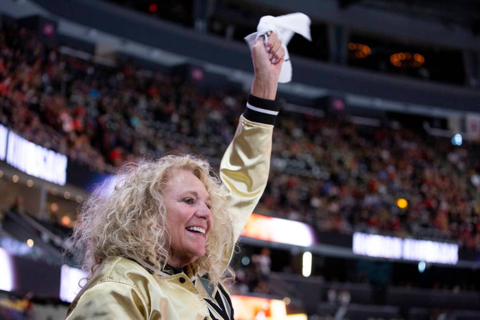
[[[445,264],[458,262],[458,245],[415,239],[385,237],[355,232],[353,252],[370,257],[404,259]]]

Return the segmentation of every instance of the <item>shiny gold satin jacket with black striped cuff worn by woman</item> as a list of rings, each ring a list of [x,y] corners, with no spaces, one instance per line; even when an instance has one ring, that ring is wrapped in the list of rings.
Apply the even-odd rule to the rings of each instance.
[[[273,123],[280,105],[276,101],[248,98],[235,137],[220,165],[220,178],[228,189],[235,239],[257,205],[268,179]],[[233,251],[230,253],[232,256]],[[186,274],[187,273],[187,274]],[[105,259],[69,308],[66,320],[212,320],[230,319],[231,303],[222,287],[186,273],[154,275],[134,261]],[[222,316],[216,293],[224,303]],[[208,300],[208,303],[207,303]]]

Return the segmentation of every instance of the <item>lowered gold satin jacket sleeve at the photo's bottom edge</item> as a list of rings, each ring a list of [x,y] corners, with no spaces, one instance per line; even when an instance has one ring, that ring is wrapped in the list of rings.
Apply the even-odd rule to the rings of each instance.
[[[147,304],[139,292],[131,284],[101,282],[80,296],[65,320],[147,319]]]

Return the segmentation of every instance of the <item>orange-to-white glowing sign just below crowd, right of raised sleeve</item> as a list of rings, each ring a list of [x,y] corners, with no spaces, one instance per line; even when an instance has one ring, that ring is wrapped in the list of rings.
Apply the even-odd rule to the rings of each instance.
[[[252,214],[241,232],[242,236],[294,246],[312,246],[312,227],[296,221]]]

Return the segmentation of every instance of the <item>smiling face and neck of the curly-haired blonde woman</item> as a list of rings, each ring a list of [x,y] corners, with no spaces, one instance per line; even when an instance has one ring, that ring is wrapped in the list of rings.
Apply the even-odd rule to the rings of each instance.
[[[205,244],[213,226],[210,195],[192,172],[176,170],[164,189],[163,201],[171,236],[167,263],[183,268],[206,252]]]

